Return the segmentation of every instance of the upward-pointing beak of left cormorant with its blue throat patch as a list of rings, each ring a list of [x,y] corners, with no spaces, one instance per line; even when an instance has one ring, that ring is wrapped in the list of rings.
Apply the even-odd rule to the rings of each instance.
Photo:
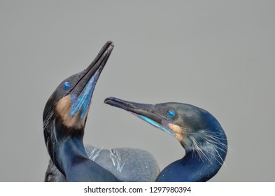
[[[81,111],[80,118],[83,118],[87,113],[92,99],[92,93],[94,92],[94,87],[97,84],[97,80],[101,71],[104,69],[108,57],[111,55],[113,47],[113,41],[108,41],[103,48],[101,48],[99,54],[90,66],[88,66],[84,71],[78,73],[79,77],[69,92],[69,94],[71,94],[72,117],[75,116],[78,111]]]

